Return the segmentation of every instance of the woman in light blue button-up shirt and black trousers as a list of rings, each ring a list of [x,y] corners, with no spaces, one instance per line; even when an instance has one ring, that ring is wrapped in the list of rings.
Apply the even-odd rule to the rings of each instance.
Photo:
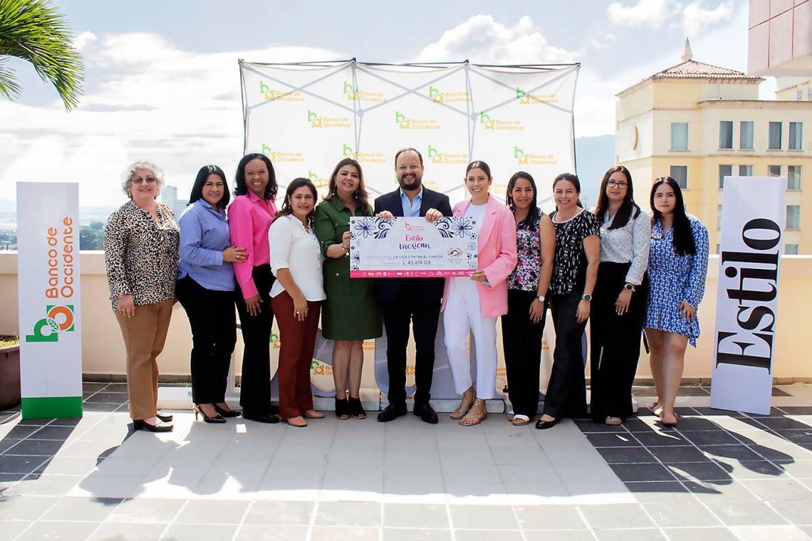
[[[206,423],[240,413],[226,404],[231,353],[237,340],[233,261],[246,257],[231,246],[226,219],[226,174],[217,165],[197,172],[189,206],[180,217],[178,300],[192,327],[192,401]]]

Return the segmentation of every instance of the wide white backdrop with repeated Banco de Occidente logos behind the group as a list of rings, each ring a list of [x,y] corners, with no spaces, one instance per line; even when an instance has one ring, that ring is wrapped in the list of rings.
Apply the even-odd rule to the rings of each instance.
[[[579,68],[240,61],[244,152],[270,157],[280,197],[296,177],[310,178],[325,195],[335,164],[353,157],[361,163],[374,199],[397,188],[395,152],[413,147],[423,156],[424,185],[446,193],[452,205],[468,198],[463,178],[465,165],[473,160],[490,165],[490,192],[500,202],[516,171],[533,175],[540,199],[549,200],[555,175],[575,170],[572,105]],[[432,388],[437,398],[456,396],[451,378],[437,373],[447,365],[442,333],[441,326]],[[319,341],[313,369],[314,385],[325,394],[332,393],[330,346]],[[365,344],[365,386],[373,376],[373,352],[367,348]],[[505,379],[499,350],[496,390],[501,393]],[[374,359],[380,368],[386,359],[385,337],[375,342]],[[413,359],[410,345],[409,385]],[[386,370],[375,372],[378,387],[386,391]]]

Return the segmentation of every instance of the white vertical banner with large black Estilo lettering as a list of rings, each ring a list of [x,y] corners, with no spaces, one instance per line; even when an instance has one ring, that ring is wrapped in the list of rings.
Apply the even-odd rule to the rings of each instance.
[[[726,177],[711,407],[770,412],[785,177]]]

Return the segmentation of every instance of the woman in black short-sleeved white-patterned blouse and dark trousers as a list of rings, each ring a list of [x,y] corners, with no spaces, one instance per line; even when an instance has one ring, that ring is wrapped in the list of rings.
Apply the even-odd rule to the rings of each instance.
[[[581,337],[590,317],[590,301],[598,276],[598,220],[581,206],[581,182],[563,173],[553,181],[555,259],[550,303],[555,327],[553,369],[544,398],[544,414],[536,428],[544,430],[562,417],[586,414],[586,383]]]

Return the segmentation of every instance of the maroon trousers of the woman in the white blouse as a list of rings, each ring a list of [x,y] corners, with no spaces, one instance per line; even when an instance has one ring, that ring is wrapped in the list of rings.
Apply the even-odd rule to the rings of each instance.
[[[283,291],[270,299],[279,325],[279,415],[291,419],[313,410],[313,390],[310,388],[310,363],[318,333],[320,301],[307,303],[307,317],[296,320],[293,299]]]

